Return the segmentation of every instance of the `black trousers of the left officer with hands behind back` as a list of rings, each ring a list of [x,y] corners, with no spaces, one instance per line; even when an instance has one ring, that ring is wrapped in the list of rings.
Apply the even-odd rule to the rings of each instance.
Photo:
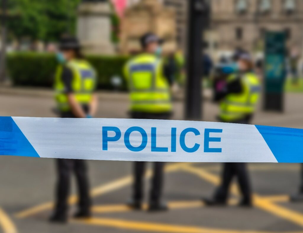
[[[75,118],[70,113],[62,113],[62,118]],[[68,210],[68,195],[70,191],[71,175],[76,176],[78,186],[78,207],[80,211],[89,212],[91,198],[89,196],[89,182],[85,160],[81,159],[57,159],[57,186],[55,213],[66,215]]]

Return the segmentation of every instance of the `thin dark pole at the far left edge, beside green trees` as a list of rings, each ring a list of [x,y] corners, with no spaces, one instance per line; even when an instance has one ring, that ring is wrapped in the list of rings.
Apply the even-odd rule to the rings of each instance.
[[[0,82],[4,82],[6,78],[6,8],[7,8],[7,0],[2,0],[2,5],[1,5],[1,10],[2,10],[2,15],[1,15],[1,40],[2,40],[2,45],[1,45],[1,53],[0,53]]]

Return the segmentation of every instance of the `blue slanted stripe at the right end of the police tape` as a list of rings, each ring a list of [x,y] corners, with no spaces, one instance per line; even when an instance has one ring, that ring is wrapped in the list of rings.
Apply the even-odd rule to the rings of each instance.
[[[303,163],[303,129],[256,125],[279,163]]]

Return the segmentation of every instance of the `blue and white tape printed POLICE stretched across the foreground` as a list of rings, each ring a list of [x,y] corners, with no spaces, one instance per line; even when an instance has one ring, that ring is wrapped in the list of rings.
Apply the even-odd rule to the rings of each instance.
[[[203,121],[0,117],[0,155],[302,163],[303,129]]]

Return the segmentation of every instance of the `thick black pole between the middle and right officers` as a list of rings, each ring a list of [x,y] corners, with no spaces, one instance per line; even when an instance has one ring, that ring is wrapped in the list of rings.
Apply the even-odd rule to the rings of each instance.
[[[188,1],[188,51],[185,118],[201,120],[202,42],[209,11],[205,0]]]

